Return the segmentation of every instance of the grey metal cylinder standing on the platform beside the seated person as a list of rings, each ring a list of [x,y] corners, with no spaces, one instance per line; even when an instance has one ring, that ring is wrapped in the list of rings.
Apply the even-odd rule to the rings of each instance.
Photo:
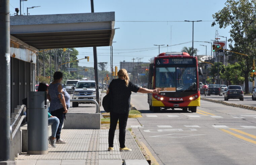
[[[48,153],[46,92],[28,92],[28,154]]]

